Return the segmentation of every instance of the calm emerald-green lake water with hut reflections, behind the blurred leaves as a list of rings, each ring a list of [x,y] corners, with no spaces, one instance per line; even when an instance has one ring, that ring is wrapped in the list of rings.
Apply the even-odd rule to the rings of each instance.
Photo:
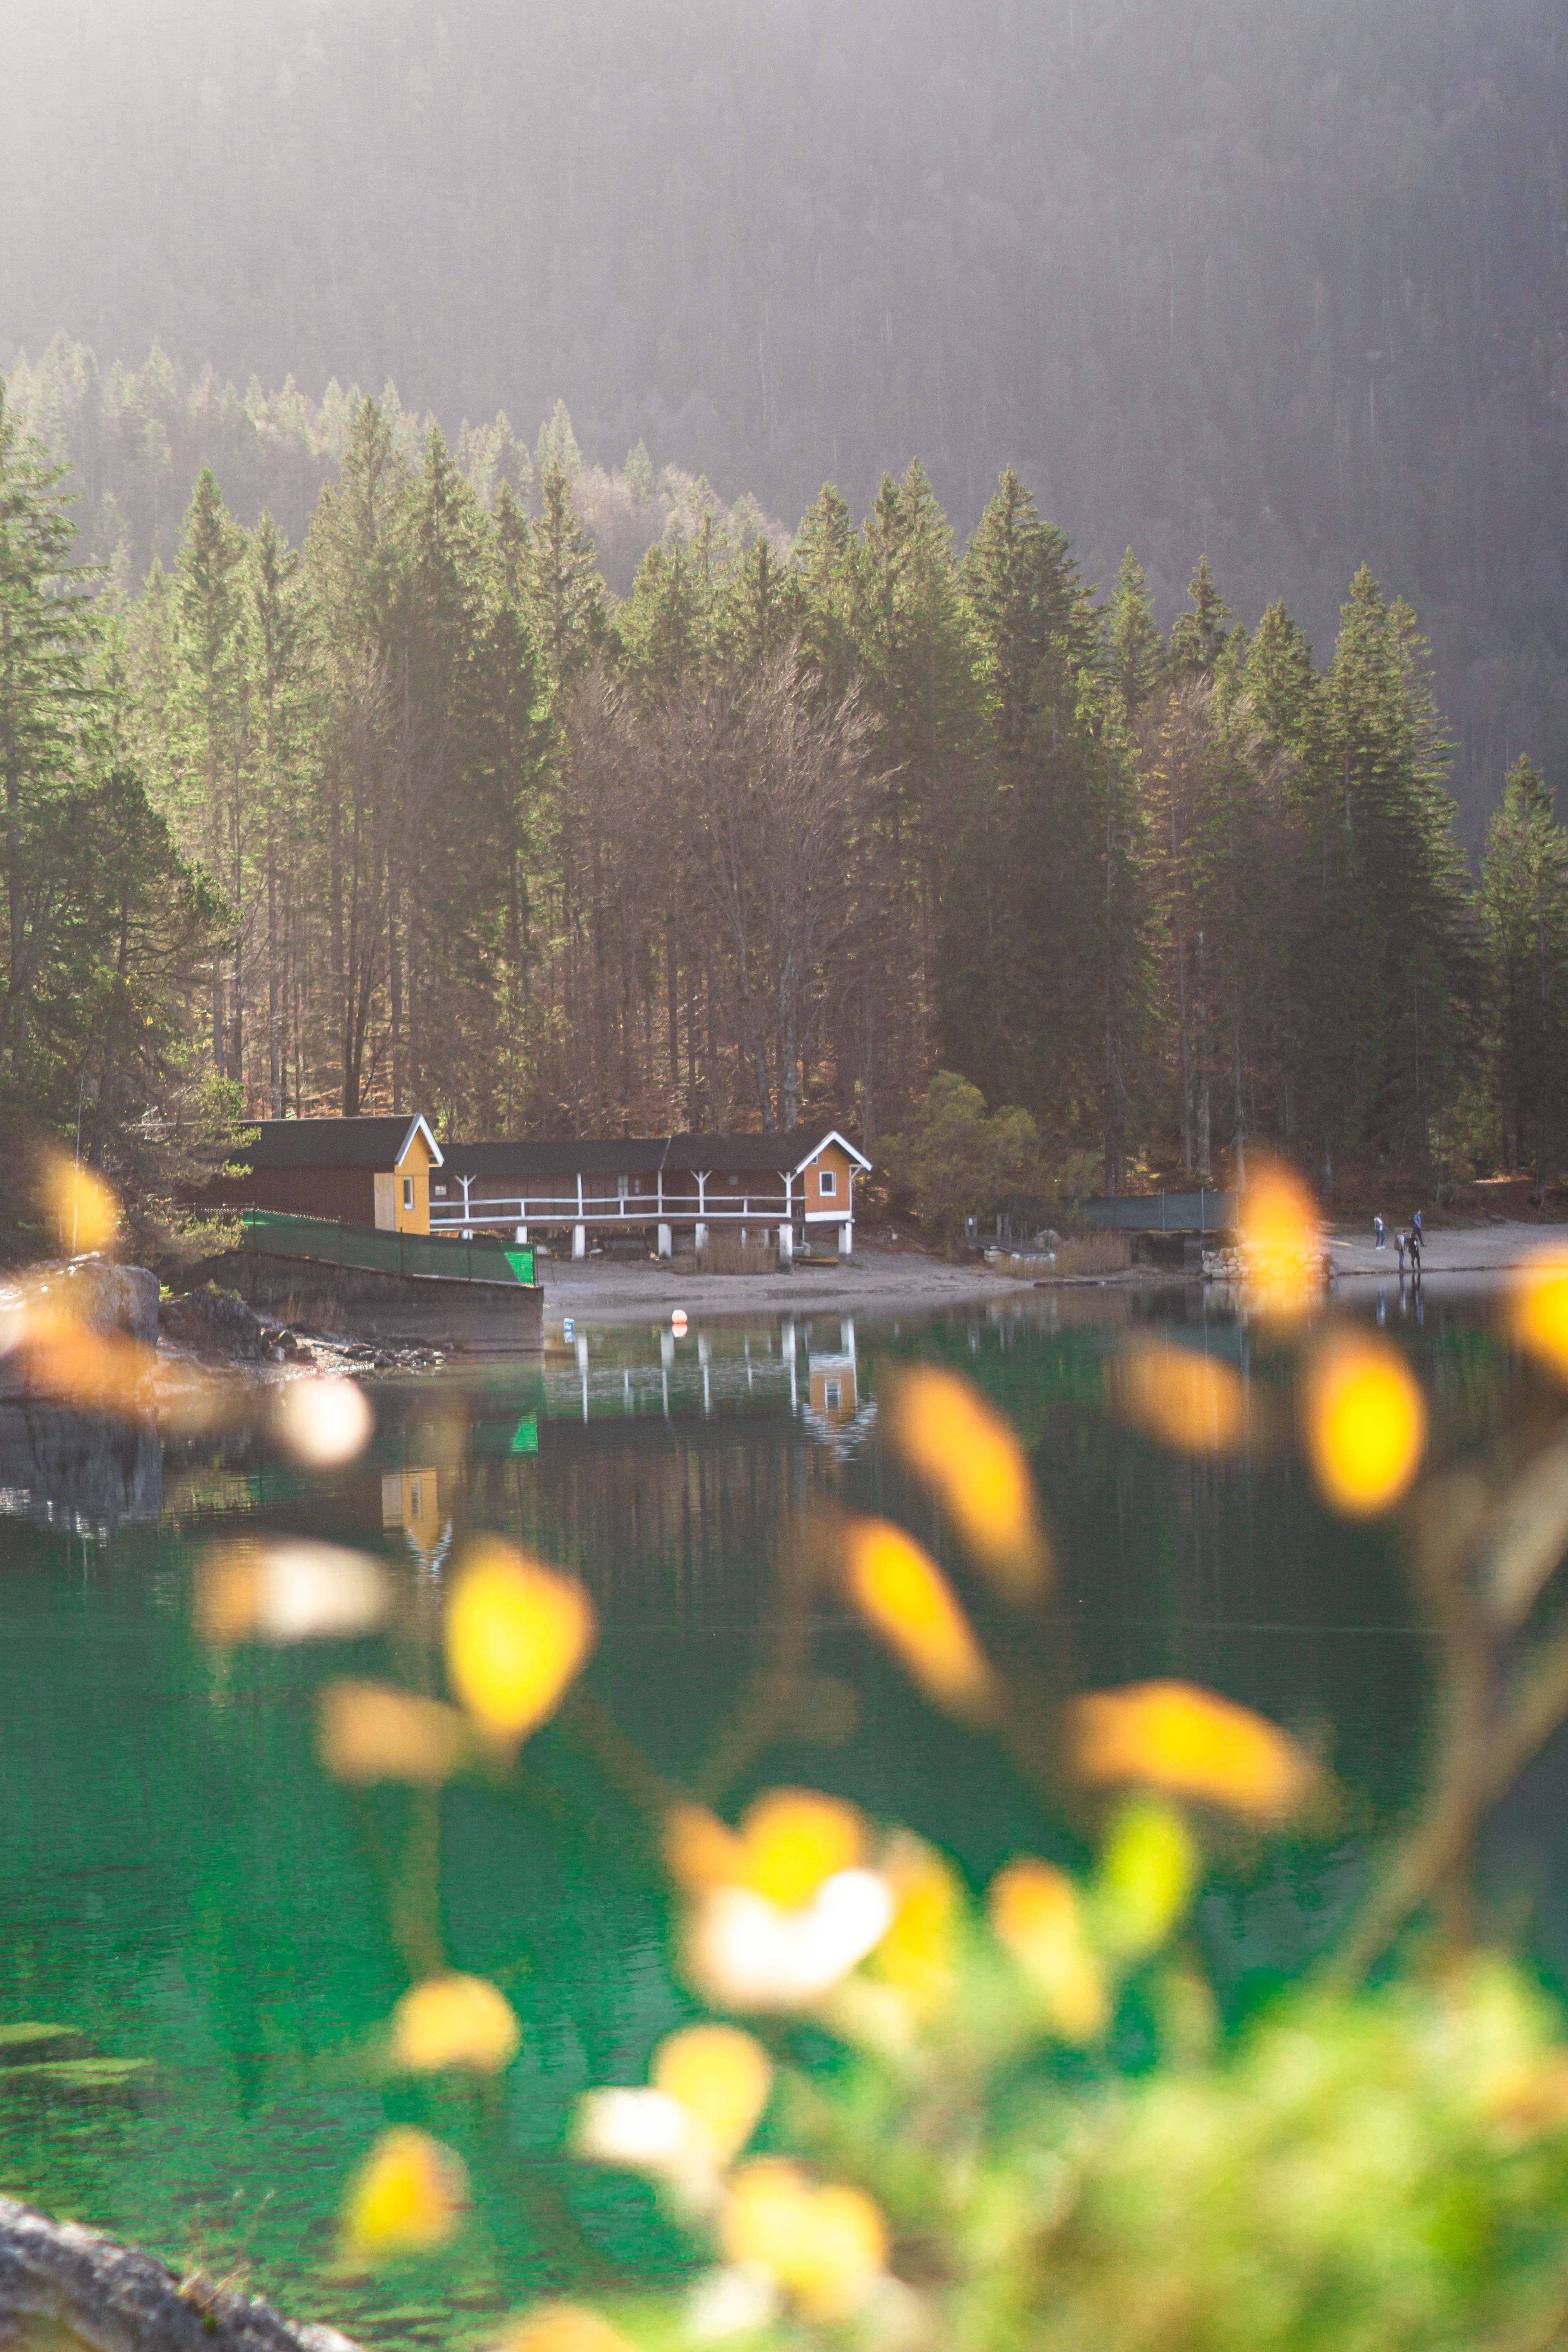
[[[1533,1409],[1483,1301],[1429,1284],[1420,1322],[1396,1296],[1385,1315],[1439,1454]],[[1276,1395],[1274,1442],[1213,1468],[1117,1423],[1105,1367],[1133,1322]],[[576,2093],[639,2082],[689,2013],[649,1832],[668,1792],[733,1809],[769,1783],[827,1788],[938,1839],[976,1886],[1025,1846],[1081,1853],[811,1576],[823,1512],[877,1508],[964,1583],[879,1444],[877,1392],[900,1362],[966,1371],[1032,1451],[1060,1613],[1001,1628],[964,1583],[999,1639],[1072,1682],[1192,1677],[1331,1762],[1331,1825],[1215,1860],[1199,1924],[1237,2006],[1333,1936],[1422,1766],[1429,1653],[1394,1541],[1319,1508],[1288,1446],[1288,1357],[1213,1298],[1025,1291],[971,1319],[757,1317],[679,1341],[548,1329],[543,1364],[378,1388],[371,1454],[329,1477],[254,1439],[160,1446],[0,1409],[0,2025],[68,2025],[99,2056],[148,2060],[113,2100],[0,2067],[0,2190],[179,2265],[244,2265],[367,2343],[482,2340],[531,2293],[679,2265],[639,2185],[562,2154]],[[343,1672],[433,1686],[442,1573],[470,1529],[592,1588],[581,1696],[508,1785],[348,1792],[315,1759],[315,1693]],[[395,1562],[393,1630],[207,1651],[193,1571],[247,1531]],[[1566,1804],[1552,1750],[1490,1846],[1549,1966],[1568,1957]],[[494,1976],[524,2020],[520,2060],[482,2093],[376,2070],[409,1955],[430,1947]],[[468,2157],[475,2213],[421,2270],[339,2279],[341,2190],[390,2119]]]

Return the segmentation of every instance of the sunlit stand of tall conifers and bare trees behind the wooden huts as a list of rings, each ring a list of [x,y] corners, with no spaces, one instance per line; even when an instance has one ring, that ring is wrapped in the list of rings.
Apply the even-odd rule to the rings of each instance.
[[[301,543],[202,470],[129,583],[0,407],[12,1148],[132,1195],[247,1115],[875,1152],[947,1073],[1065,1195],[1556,1174],[1568,842],[1521,757],[1472,887],[1366,567],[1316,659],[1204,555],[1171,630],[1131,548],[1095,597],[1013,470],[959,546],[919,463],[783,534],[635,449],[618,597],[564,409],[527,475],[409,440],[362,397]]]

